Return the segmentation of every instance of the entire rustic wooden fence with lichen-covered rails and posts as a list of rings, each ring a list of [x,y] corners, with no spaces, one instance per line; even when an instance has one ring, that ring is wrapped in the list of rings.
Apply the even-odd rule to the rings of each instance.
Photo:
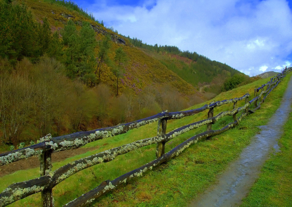
[[[25,159],[34,155],[40,155],[41,158],[41,176],[25,182],[14,183],[9,185],[0,194],[0,207],[7,206],[17,200],[23,199],[29,195],[41,192],[42,206],[49,207],[54,206],[52,189],[60,182],[72,176],[83,169],[91,167],[93,165],[109,162],[115,159],[118,155],[125,154],[132,150],[157,143],[156,156],[157,159],[149,162],[131,172],[119,176],[114,180],[107,180],[102,182],[95,189],[83,194],[79,198],[74,199],[65,206],[87,206],[98,197],[108,193],[121,183],[126,183],[128,180],[134,177],[142,176],[148,170],[151,170],[155,166],[160,165],[179,155],[185,148],[189,147],[192,143],[196,143],[198,140],[207,138],[216,134],[220,134],[239,123],[239,121],[260,108],[261,103],[264,102],[267,95],[280,83],[281,79],[286,76],[288,72],[292,71],[292,67],[284,69],[281,73],[261,87],[258,87],[254,91],[254,98],[249,101],[250,94],[245,94],[240,98],[234,98],[230,100],[216,101],[210,104],[206,104],[201,108],[180,111],[180,112],[161,112],[157,115],[147,117],[141,120],[129,122],[126,124],[119,124],[114,127],[106,127],[102,129],[96,129],[92,131],[81,131],[69,135],[59,136],[52,138],[47,135],[40,139],[40,143],[13,150],[0,155],[0,166],[6,165],[12,162],[16,162],[20,159]],[[259,93],[260,92],[260,93]],[[259,94],[258,94],[259,93]],[[237,107],[237,102],[244,100],[244,106]],[[214,116],[213,111],[215,107],[222,106],[224,104],[233,103],[233,109],[230,111],[223,111]],[[208,110],[208,118],[200,120],[177,129],[170,131],[166,134],[167,120],[181,119],[186,116],[194,115],[202,111]],[[241,112],[241,115],[237,117],[237,114]],[[227,124],[225,127],[212,130],[212,124],[214,124],[220,118],[229,115],[233,117],[233,122]],[[118,134],[124,134],[130,129],[139,128],[145,124],[152,122],[158,122],[157,136],[151,138],[145,138],[126,145],[115,147],[103,152],[99,152],[95,155],[91,155],[74,162],[70,162],[55,171],[51,170],[51,154],[62,150],[69,150],[84,146],[86,143],[96,141],[99,139],[115,136]],[[179,144],[169,152],[165,153],[165,143],[171,139],[183,134],[192,129],[196,129],[203,125],[207,125],[207,130],[201,134],[197,134],[187,139],[183,143]]]

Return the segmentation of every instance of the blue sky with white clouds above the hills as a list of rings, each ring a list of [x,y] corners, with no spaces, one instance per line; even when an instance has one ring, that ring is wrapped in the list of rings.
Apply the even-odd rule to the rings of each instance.
[[[257,75],[292,66],[292,0],[77,0],[107,27]]]

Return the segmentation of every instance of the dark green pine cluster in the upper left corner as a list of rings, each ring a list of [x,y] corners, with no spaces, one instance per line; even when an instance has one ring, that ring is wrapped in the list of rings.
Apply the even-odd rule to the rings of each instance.
[[[24,56],[39,57],[50,43],[51,30],[47,19],[37,23],[22,3],[0,2],[0,56],[11,62]]]

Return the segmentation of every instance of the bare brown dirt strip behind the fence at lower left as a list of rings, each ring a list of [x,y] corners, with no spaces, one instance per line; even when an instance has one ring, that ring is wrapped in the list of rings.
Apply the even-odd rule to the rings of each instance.
[[[52,161],[59,162],[75,155],[81,155],[87,151],[94,150],[98,147],[89,148],[77,148],[72,150],[65,150],[61,152],[55,152],[52,154]],[[0,177],[14,173],[19,170],[25,170],[40,166],[39,156],[29,157],[27,159],[21,159],[17,162],[9,163],[8,165],[0,166]]]

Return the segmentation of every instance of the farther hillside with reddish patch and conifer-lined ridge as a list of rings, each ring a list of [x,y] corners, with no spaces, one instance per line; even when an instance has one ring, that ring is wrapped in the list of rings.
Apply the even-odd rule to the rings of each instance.
[[[217,61],[212,61],[196,52],[181,51],[176,46],[147,45],[137,38],[127,37],[133,45],[141,48],[146,54],[158,59],[168,69],[175,72],[194,87],[216,82],[216,78],[228,78],[244,73]]]

